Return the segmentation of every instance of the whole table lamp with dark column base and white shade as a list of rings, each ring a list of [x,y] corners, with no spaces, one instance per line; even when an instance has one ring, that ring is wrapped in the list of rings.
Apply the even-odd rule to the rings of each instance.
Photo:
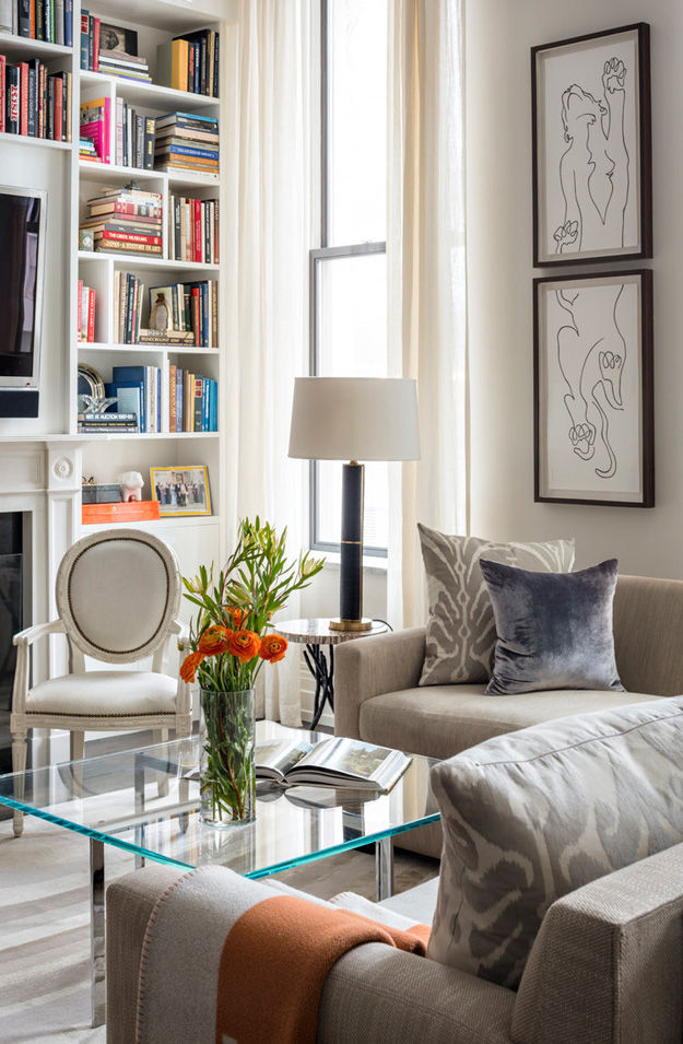
[[[363,619],[362,460],[417,460],[414,380],[392,377],[297,377],[290,457],[344,460],[339,620],[335,631],[368,631]]]

